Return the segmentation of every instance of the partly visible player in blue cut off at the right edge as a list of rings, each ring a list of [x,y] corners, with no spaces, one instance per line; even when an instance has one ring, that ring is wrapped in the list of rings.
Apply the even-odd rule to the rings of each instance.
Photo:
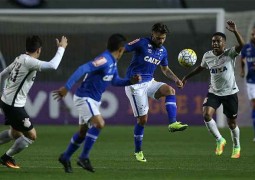
[[[252,28],[250,43],[245,44],[241,51],[241,77],[245,76],[245,64],[248,69],[246,85],[248,98],[252,104],[251,117],[254,129],[253,142],[255,142],[255,27]]]

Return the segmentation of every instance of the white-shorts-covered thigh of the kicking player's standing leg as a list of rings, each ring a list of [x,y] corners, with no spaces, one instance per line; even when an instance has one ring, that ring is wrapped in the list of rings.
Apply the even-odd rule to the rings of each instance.
[[[125,92],[130,101],[130,105],[135,117],[148,114],[149,102],[147,89],[148,82],[125,87]]]

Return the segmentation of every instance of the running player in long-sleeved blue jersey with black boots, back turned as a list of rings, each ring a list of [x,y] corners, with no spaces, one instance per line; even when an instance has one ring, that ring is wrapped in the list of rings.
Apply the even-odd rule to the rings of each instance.
[[[113,34],[108,40],[105,52],[94,60],[80,66],[68,79],[65,87],[54,91],[56,99],[63,98],[72,86],[81,77],[85,76],[73,98],[79,114],[79,132],[73,135],[66,151],[59,157],[59,162],[64,166],[67,173],[72,172],[70,158],[83,141],[85,141],[84,147],[77,164],[90,172],[95,171],[90,163],[89,153],[105,124],[99,112],[99,106],[102,93],[106,87],[110,84],[126,86],[138,83],[141,80],[139,75],[134,75],[129,79],[119,78],[117,61],[125,50],[125,41],[126,38],[123,35]]]

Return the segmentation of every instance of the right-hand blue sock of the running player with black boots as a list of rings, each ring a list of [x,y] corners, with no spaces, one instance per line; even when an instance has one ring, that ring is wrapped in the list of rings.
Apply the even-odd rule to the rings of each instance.
[[[84,143],[84,147],[80,155],[80,158],[86,159],[89,157],[90,150],[92,146],[94,145],[94,143],[96,142],[97,137],[99,136],[99,133],[100,133],[100,129],[94,126],[88,130],[85,137],[85,143]]]

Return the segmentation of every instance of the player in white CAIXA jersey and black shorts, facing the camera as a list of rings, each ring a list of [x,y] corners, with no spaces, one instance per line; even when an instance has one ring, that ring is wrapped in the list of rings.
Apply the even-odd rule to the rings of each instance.
[[[209,92],[203,103],[203,117],[208,131],[216,139],[216,155],[223,153],[226,140],[220,134],[217,125],[213,119],[216,109],[222,104],[223,113],[227,116],[228,126],[233,141],[233,151],[231,158],[240,157],[240,130],[236,123],[238,113],[238,87],[235,80],[235,61],[241,51],[244,40],[239,34],[236,24],[227,21],[227,29],[234,33],[238,44],[232,48],[225,49],[226,35],[216,32],[212,35],[212,50],[204,54],[200,66],[196,67],[182,79],[185,85],[186,81],[192,76],[200,73],[204,69],[210,71]]]

